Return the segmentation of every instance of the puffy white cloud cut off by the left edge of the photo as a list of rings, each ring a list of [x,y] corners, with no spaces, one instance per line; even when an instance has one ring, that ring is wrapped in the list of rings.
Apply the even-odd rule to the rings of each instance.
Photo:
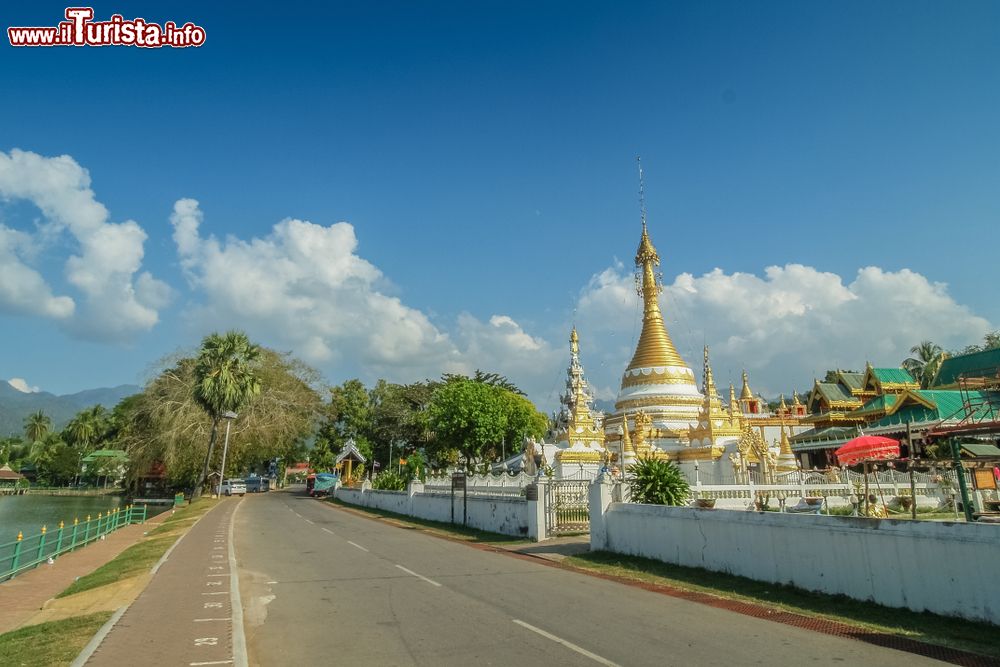
[[[0,226],[0,309],[40,315],[98,340],[129,338],[156,324],[171,290],[141,272],[146,233],[135,221],[109,220],[90,189],[90,174],[73,158],[0,152],[0,198],[31,202],[44,216],[33,233]],[[55,296],[32,266],[38,245],[66,235],[74,254],[65,260],[65,278],[79,302]]]

